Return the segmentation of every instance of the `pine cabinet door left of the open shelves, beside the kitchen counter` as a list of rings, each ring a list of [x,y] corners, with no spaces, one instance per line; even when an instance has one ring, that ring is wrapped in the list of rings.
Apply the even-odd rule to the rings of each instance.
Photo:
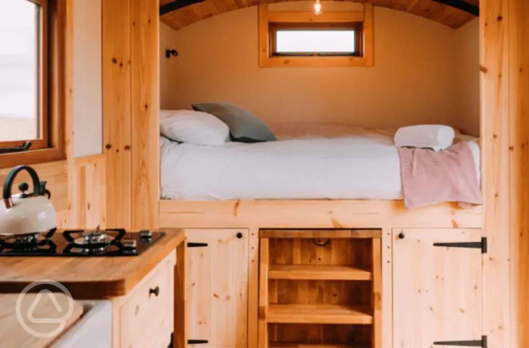
[[[186,236],[187,339],[207,340],[189,346],[247,347],[248,230],[186,229]]]

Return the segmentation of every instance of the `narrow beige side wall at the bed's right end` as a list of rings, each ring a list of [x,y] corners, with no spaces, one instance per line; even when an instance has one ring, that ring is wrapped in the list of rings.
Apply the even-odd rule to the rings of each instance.
[[[479,130],[479,20],[455,32],[456,126],[478,136]]]

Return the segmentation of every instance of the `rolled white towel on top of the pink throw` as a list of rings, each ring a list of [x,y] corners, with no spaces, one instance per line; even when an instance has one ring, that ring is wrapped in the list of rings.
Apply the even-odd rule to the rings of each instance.
[[[395,133],[395,145],[412,148],[428,148],[435,151],[448,149],[454,142],[452,127],[421,124],[399,128]]]

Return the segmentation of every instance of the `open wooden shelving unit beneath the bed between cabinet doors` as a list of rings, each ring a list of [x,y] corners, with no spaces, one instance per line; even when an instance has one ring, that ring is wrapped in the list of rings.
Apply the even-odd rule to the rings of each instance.
[[[261,230],[259,348],[380,348],[380,230]]]

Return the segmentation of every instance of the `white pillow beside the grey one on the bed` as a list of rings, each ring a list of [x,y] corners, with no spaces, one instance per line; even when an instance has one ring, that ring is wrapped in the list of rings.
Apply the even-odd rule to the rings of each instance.
[[[160,111],[160,133],[167,138],[196,145],[222,145],[230,134],[217,117],[199,111]]]

